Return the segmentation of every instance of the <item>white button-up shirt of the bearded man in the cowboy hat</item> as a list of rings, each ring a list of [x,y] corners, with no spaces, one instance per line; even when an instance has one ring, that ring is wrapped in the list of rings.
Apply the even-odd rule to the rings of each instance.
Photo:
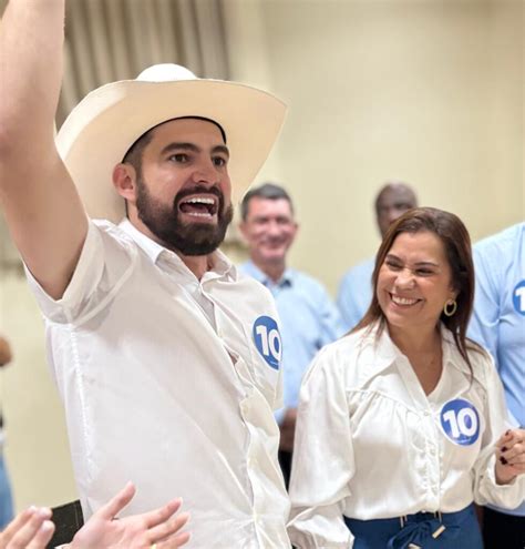
[[[126,515],[184,498],[188,547],[289,547],[270,294],[219,252],[198,281],[127,221],[90,222],[61,299],[29,277],[86,517],[133,480]]]

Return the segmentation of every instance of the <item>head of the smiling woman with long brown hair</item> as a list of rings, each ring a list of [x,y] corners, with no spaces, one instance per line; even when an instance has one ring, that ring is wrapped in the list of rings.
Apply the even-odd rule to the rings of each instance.
[[[389,318],[389,313],[401,307],[389,309],[389,303],[395,305],[390,295],[398,305],[401,297],[418,298],[420,306],[411,312],[419,314],[406,321],[410,324],[412,319],[416,339],[421,340],[425,329],[430,337],[441,321],[470,364],[465,334],[474,301],[474,265],[469,232],[457,216],[431,207],[414,209],[401,216],[378,251],[372,284],[372,303],[354,332],[374,322],[381,328],[388,323],[389,329],[395,331],[394,317],[391,314]],[[456,311],[451,315],[445,306],[454,303]]]

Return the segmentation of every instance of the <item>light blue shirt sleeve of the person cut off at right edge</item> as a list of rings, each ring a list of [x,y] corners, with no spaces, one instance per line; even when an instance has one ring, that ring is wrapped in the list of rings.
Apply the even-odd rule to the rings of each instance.
[[[496,262],[495,262],[496,263]],[[474,250],[476,287],[469,337],[485,347],[497,360],[500,333],[500,289],[494,279],[497,266],[487,265],[482,250]]]

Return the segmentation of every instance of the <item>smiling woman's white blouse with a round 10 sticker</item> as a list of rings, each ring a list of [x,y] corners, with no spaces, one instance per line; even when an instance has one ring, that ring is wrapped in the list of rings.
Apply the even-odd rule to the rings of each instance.
[[[326,346],[303,378],[289,525],[301,549],[352,547],[343,515],[369,520],[525,499],[524,475],[495,482],[494,444],[508,424],[488,355],[469,353],[471,383],[442,328],[443,373],[425,395],[388,331],[375,335],[364,328]]]

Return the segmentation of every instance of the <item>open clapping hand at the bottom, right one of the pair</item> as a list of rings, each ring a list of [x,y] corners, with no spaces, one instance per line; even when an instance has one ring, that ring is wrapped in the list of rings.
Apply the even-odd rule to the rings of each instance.
[[[179,532],[189,515],[173,515],[182,505],[181,499],[142,515],[115,519],[132,500],[135,487],[128,482],[104,507],[99,509],[76,532],[70,549],[176,549],[189,539],[188,532]]]

